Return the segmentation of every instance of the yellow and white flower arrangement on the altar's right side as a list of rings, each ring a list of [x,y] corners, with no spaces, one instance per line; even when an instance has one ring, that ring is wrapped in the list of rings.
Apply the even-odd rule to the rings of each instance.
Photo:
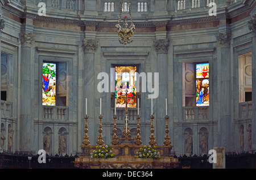
[[[156,151],[156,146],[151,147],[150,145],[144,145],[137,152],[137,158],[160,158],[160,153]]]

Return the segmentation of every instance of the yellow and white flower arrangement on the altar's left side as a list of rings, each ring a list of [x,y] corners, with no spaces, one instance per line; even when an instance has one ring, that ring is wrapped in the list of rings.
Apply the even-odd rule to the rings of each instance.
[[[105,147],[102,145],[97,145],[96,150],[93,150],[93,153],[90,153],[90,157],[112,158],[115,157],[115,154],[113,153],[113,148],[110,148],[109,145],[106,145]]]

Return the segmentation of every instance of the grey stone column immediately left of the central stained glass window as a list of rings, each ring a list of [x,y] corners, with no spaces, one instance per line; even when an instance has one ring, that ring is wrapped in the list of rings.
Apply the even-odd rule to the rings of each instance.
[[[94,85],[96,82],[96,78],[94,77],[94,53],[98,48],[98,41],[94,39],[84,39],[82,41],[82,48],[84,49],[84,61],[85,61],[85,72],[84,72],[84,102],[85,98],[87,98],[87,113],[89,116],[88,119],[88,135],[90,138],[90,144],[93,145],[96,143],[96,136],[94,135],[94,122],[98,118],[95,117],[95,96],[94,92],[97,91],[97,87]],[[84,103],[85,104],[85,103]],[[84,106],[85,109],[85,106]],[[85,110],[83,111],[85,115]],[[84,131],[83,131],[84,132]]]

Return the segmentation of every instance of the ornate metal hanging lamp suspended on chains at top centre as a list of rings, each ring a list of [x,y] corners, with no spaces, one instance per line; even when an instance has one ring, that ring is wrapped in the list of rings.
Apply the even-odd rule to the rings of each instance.
[[[118,24],[115,25],[116,32],[118,34],[119,42],[121,44],[128,44],[133,42],[133,40],[130,39],[131,36],[133,36],[135,32],[135,25],[133,24],[133,20],[131,18],[131,6],[130,1],[128,0],[128,8],[130,13],[130,21],[131,24],[129,25],[127,16],[123,19],[123,24],[121,24],[121,18],[122,18],[122,8],[123,8],[123,0],[121,0],[120,10],[119,10],[119,16],[118,16]]]

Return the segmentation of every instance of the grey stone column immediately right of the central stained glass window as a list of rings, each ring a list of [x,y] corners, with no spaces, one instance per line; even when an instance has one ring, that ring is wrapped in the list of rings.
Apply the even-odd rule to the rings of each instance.
[[[164,142],[164,130],[166,126],[166,98],[168,89],[168,77],[167,77],[167,53],[169,41],[156,40],[154,46],[157,52],[157,72],[159,73],[159,95],[156,98],[156,144],[163,145]]]

